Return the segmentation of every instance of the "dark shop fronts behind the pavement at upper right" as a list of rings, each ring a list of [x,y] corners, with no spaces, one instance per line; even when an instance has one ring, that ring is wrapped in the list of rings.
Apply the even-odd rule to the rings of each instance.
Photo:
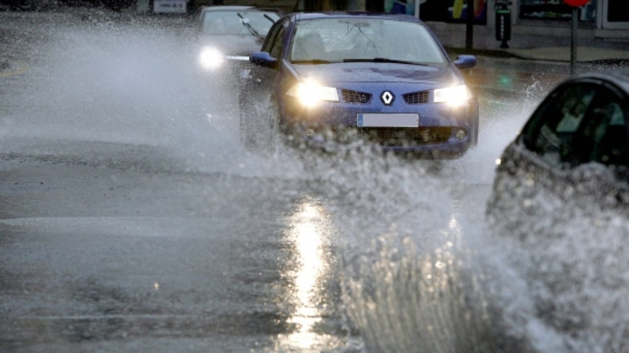
[[[420,3],[419,16],[446,46],[465,46],[467,0],[366,0],[367,9],[409,9]],[[512,48],[569,46],[572,8],[563,0],[511,0]],[[380,8],[378,8],[381,6]],[[474,48],[497,49],[496,0],[474,0]],[[395,11],[394,11],[395,12]],[[399,12],[399,11],[398,11]],[[629,48],[629,0],[591,0],[579,8],[579,45]]]

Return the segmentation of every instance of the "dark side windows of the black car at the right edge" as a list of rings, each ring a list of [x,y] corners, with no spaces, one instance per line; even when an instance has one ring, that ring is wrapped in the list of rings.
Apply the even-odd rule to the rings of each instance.
[[[560,87],[533,114],[523,140],[551,165],[573,167],[595,161],[626,166],[622,99],[600,84]]]

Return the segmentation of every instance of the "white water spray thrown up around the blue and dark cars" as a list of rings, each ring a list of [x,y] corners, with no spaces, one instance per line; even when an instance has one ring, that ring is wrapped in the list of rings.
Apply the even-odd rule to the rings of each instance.
[[[55,28],[30,62],[38,79],[28,97],[0,117],[3,146],[33,137],[86,149],[159,146],[186,171],[248,178],[270,198],[294,196],[276,180],[311,190],[334,215],[343,305],[372,352],[626,351],[621,215],[601,214],[602,227],[579,215],[550,243],[511,253],[520,244],[493,237],[478,218],[487,193],[465,192],[491,185],[494,161],[548,87],[530,85],[525,102],[481,102],[479,146],[460,160],[406,160],[360,144],[330,155],[259,155],[238,141],[228,82],[196,66],[200,48],[182,31],[93,17]],[[230,200],[246,201],[250,188],[225,185],[235,187]],[[464,196],[454,197],[461,186]],[[201,192],[215,201],[206,207],[228,198],[211,186]],[[567,268],[571,280],[556,281]],[[610,276],[610,268],[620,270]],[[540,315],[538,303],[550,314]],[[562,330],[558,318],[584,321]]]

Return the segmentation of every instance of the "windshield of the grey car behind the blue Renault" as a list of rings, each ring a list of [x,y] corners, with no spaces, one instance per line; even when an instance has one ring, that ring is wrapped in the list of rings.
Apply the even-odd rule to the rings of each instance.
[[[240,18],[240,16],[243,18]],[[260,36],[267,35],[279,16],[273,11],[208,11],[203,16],[203,33],[207,35],[253,35],[247,24]]]

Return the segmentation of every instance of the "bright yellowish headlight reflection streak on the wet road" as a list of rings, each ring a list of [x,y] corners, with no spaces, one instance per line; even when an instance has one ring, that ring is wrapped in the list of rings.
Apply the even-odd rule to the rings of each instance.
[[[315,349],[325,342],[325,335],[314,332],[315,325],[321,321],[320,308],[317,307],[316,293],[321,278],[330,271],[324,249],[328,244],[333,228],[321,205],[306,199],[289,217],[287,239],[296,250],[298,266],[289,276],[294,278],[293,290],[296,307],[288,323],[296,325],[291,334],[278,337],[279,350]]]

